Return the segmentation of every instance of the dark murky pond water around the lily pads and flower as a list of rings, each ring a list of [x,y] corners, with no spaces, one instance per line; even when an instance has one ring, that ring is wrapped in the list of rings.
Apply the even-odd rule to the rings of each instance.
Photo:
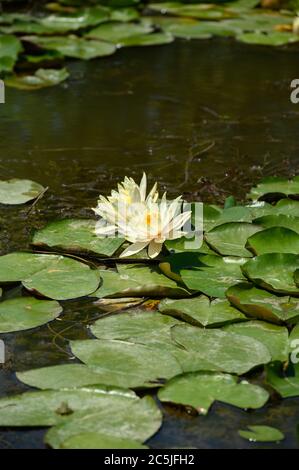
[[[296,55],[296,56],[295,56]],[[34,228],[54,218],[91,215],[99,193],[142,171],[171,195],[223,202],[265,175],[299,168],[299,105],[290,102],[298,50],[247,47],[230,40],[175,41],[71,62],[71,80],[37,92],[7,90],[0,105],[1,178],[34,179],[49,190],[35,210],[1,207],[1,252],[28,246]],[[7,295],[13,296],[15,292]],[[51,324],[1,335],[7,362],[0,395],[26,387],[13,371],[73,362],[69,339],[87,338],[101,315],[90,301],[64,302]],[[258,380],[258,377],[253,377]],[[279,447],[299,445],[299,399],[278,398],[255,412],[214,404],[194,417],[164,407],[155,448],[275,448],[238,437],[248,424],[279,427]],[[1,430],[0,448],[42,448],[44,430]]]

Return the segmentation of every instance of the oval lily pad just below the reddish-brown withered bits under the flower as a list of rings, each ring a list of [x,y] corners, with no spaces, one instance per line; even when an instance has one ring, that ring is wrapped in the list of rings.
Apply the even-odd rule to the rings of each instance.
[[[99,339],[111,339],[140,343],[171,343],[170,330],[181,323],[158,312],[136,311],[101,318],[91,326],[91,332]]]

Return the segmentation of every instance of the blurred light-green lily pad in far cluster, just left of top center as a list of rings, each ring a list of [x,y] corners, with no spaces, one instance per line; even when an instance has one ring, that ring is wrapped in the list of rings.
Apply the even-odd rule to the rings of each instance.
[[[119,44],[123,39],[153,31],[149,23],[105,23],[89,31],[85,37]]]

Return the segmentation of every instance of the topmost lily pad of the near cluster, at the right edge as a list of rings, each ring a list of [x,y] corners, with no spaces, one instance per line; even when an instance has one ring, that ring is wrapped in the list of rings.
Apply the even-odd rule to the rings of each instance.
[[[299,39],[299,36],[297,36]],[[261,183],[251,188],[249,199],[278,200],[287,196],[299,197],[299,177],[291,180],[279,177],[264,178]]]

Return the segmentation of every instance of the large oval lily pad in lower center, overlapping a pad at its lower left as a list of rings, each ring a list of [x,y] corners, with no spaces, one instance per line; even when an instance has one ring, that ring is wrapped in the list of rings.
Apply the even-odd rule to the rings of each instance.
[[[125,388],[155,387],[182,368],[167,349],[117,340],[72,341],[72,352],[96,366],[101,383]]]

